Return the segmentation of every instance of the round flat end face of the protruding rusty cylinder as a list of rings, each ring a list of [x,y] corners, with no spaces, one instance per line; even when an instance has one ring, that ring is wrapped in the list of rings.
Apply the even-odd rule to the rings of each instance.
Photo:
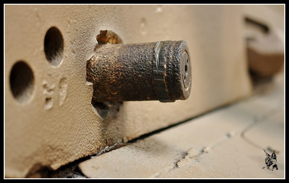
[[[182,45],[182,53],[180,57],[181,62],[181,74],[183,80],[183,92],[184,92],[184,99],[189,98],[190,90],[191,90],[191,83],[192,83],[192,75],[191,75],[191,65],[190,65],[190,56],[189,56],[189,49],[186,42],[183,42]]]

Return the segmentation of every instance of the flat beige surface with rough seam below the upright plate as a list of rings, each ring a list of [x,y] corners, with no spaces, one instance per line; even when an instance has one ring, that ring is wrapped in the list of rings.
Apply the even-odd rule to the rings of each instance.
[[[250,98],[80,162],[70,177],[285,178],[284,109],[281,73]],[[275,150],[278,170],[262,169],[263,149]]]

